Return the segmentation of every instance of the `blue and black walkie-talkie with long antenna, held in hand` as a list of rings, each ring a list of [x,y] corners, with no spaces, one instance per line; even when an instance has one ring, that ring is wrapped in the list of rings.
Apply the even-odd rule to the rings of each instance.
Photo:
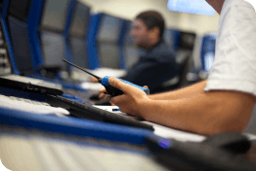
[[[96,75],[94,75],[94,74],[92,74],[92,73],[86,71],[85,69],[83,69],[83,68],[81,68],[81,67],[79,67],[79,66],[77,66],[77,65],[75,65],[75,64],[73,64],[73,63],[71,63],[71,62],[68,62],[68,61],[65,60],[65,59],[63,59],[63,60],[64,60],[64,62],[66,62],[66,63],[68,63],[68,64],[70,64],[70,65],[72,65],[72,66],[74,66],[74,67],[76,67],[76,68],[78,68],[78,69],[80,69],[80,70],[86,72],[87,74],[90,74],[91,76],[95,77],[96,79],[98,79],[98,83],[100,83],[100,84],[102,84],[102,85],[105,86],[106,91],[107,91],[107,92],[105,92],[106,94],[108,94],[108,95],[110,95],[110,96],[112,96],[112,97],[113,97],[113,96],[117,96],[117,95],[122,95],[122,94],[123,94],[123,91],[122,91],[122,90],[120,90],[120,89],[118,89],[118,88],[116,88],[116,87],[113,87],[112,85],[109,85],[109,84],[108,84],[108,79],[109,79],[110,77],[105,76],[104,78],[100,78],[99,76],[96,76]],[[118,78],[116,78],[116,79],[118,79]],[[138,88],[144,90],[144,92],[145,92],[147,95],[149,95],[149,88],[145,88],[145,87],[139,86],[139,85],[134,85],[134,84],[131,84],[130,82],[127,82],[127,81],[124,81],[124,80],[121,80],[121,79],[118,79],[118,80],[120,80],[122,83],[125,83],[125,84],[128,84],[128,85],[136,86],[136,87],[138,87]]]

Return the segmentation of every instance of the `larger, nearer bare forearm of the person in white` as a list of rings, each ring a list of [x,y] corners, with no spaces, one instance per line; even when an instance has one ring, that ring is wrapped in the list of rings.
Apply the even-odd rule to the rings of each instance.
[[[148,100],[140,105],[139,114],[152,122],[209,135],[242,131],[253,106],[248,94],[213,91],[178,100]]]

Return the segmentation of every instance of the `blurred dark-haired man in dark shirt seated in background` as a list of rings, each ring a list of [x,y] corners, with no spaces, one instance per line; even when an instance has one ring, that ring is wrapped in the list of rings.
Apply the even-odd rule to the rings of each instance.
[[[145,52],[121,79],[136,85],[148,85],[153,92],[178,75],[179,65],[174,51],[163,40],[164,30],[164,19],[157,12],[147,11],[136,17],[130,34]],[[91,81],[97,82],[96,79]]]

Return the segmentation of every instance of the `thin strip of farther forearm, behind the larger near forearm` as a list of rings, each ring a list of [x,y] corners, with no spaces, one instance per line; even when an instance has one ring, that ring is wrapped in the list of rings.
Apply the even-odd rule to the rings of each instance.
[[[171,100],[171,99],[192,97],[194,95],[203,93],[204,92],[203,88],[205,87],[206,83],[207,81],[202,81],[195,85],[190,85],[178,90],[149,95],[149,98],[153,100]]]

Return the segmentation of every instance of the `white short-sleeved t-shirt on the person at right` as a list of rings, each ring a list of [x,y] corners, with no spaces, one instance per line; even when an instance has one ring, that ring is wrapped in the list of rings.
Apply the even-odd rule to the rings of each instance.
[[[204,90],[256,96],[256,11],[246,0],[226,0],[220,15],[213,65]]]

